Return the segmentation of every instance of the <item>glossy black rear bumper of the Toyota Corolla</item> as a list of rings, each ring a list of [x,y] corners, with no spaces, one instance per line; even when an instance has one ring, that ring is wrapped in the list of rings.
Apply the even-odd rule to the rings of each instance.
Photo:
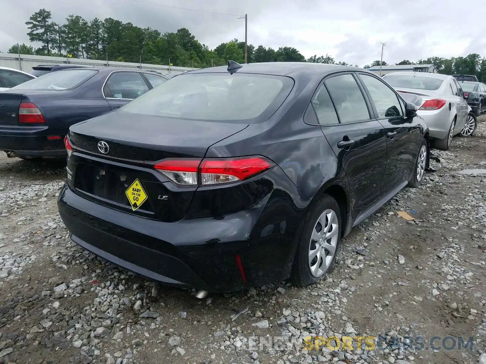
[[[280,224],[267,235],[255,233],[269,230],[265,206],[221,219],[166,223],[107,208],[65,186],[58,208],[74,242],[168,285],[228,292],[281,281],[291,273],[295,216],[287,216],[287,226]]]

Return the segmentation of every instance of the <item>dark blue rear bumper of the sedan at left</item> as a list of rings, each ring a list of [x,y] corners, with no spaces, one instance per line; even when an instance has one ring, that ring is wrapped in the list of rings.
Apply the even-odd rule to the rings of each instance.
[[[48,125],[0,125],[0,150],[26,157],[64,156],[67,132]],[[48,136],[59,136],[60,139],[49,140]]]

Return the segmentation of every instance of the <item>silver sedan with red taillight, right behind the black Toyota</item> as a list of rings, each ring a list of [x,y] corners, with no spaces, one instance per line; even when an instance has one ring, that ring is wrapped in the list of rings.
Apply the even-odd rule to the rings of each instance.
[[[391,72],[383,80],[400,93],[417,96],[417,114],[429,127],[433,147],[448,150],[470,110],[459,83],[452,76],[425,72]]]

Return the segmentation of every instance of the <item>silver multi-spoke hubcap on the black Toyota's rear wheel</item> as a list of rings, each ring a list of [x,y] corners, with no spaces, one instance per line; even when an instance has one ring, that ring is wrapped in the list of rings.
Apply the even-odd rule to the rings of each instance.
[[[336,213],[325,210],[317,219],[309,244],[309,268],[312,276],[322,277],[332,263],[339,238],[339,221]]]

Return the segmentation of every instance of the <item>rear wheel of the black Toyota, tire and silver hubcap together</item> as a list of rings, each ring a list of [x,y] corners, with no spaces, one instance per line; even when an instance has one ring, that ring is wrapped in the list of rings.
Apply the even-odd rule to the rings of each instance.
[[[297,238],[292,269],[295,284],[308,286],[332,272],[343,228],[338,203],[330,195],[323,195],[313,204],[299,229],[302,234]]]

